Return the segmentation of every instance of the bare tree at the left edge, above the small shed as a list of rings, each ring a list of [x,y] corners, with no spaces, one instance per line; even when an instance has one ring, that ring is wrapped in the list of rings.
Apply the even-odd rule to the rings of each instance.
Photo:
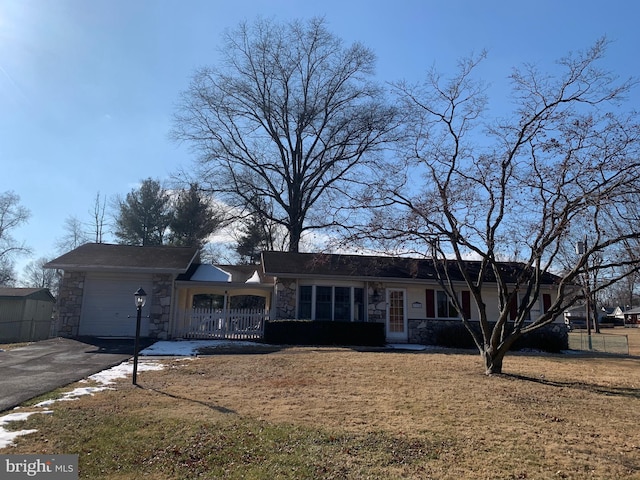
[[[15,282],[13,270],[17,256],[29,253],[24,242],[13,238],[13,231],[26,223],[30,216],[29,210],[20,205],[20,197],[14,192],[0,193],[0,285]]]

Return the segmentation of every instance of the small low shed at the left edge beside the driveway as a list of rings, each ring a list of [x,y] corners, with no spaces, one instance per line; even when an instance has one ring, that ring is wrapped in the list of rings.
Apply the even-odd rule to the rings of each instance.
[[[0,343],[49,338],[55,302],[47,288],[0,288]]]

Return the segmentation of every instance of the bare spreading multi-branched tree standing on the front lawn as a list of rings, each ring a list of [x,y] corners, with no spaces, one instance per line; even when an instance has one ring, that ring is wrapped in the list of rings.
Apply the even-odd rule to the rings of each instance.
[[[516,340],[583,301],[577,288],[583,278],[597,272],[591,290],[599,290],[640,266],[637,256],[617,254],[629,244],[637,252],[640,237],[640,215],[632,208],[640,187],[640,130],[637,115],[624,106],[634,81],[598,66],[606,46],[602,39],[561,59],[557,75],[533,65],[514,69],[515,109],[498,119],[488,118],[488,90],[475,78],[485,54],[461,61],[452,78],[432,70],[420,84],[396,85],[411,114],[405,158],[387,165],[381,207],[366,233],[387,247],[391,242],[457,264],[464,287],[447,278],[448,269],[439,280],[487,374],[502,371]],[[585,238],[576,253],[575,242]],[[567,255],[572,261],[563,268]],[[469,259],[479,260],[479,270],[469,268]],[[515,281],[501,268],[506,260],[519,262]],[[541,279],[550,273],[557,275],[557,299],[530,318]],[[497,280],[495,318],[487,313],[488,278]],[[465,317],[460,288],[475,299],[479,329]]]

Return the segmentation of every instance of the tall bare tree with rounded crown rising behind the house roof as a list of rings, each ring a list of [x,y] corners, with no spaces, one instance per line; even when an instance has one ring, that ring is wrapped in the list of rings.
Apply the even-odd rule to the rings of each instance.
[[[336,221],[345,183],[394,127],[374,54],[312,19],[243,23],[221,55],[182,94],[173,136],[198,152],[199,182],[282,225],[298,251],[304,231]]]

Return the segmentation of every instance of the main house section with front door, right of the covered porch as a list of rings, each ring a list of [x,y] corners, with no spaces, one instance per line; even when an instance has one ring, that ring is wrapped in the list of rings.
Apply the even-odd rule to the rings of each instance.
[[[468,262],[477,269],[479,262]],[[380,322],[385,324],[388,342],[431,344],[439,331],[460,322],[458,312],[439,287],[434,263],[428,259],[264,252],[262,266],[275,277],[277,319],[310,319]],[[460,303],[473,321],[477,309],[465,288],[457,267],[450,264],[450,276],[457,284]],[[509,282],[520,268],[502,264]],[[540,300],[531,316],[546,312],[555,298],[557,277],[542,279]],[[487,279],[485,301],[489,318],[498,316],[495,283]],[[518,304],[511,305],[511,318]],[[560,323],[552,329],[560,330]]]

